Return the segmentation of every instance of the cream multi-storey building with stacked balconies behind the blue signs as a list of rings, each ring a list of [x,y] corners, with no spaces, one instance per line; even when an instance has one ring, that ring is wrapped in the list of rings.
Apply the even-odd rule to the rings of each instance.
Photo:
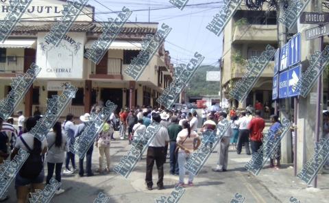
[[[223,32],[222,85],[226,99],[230,99],[230,89],[246,73],[247,60],[259,57],[267,45],[278,48],[276,12],[265,17],[265,11],[248,10],[242,5]],[[274,59],[269,62],[247,99],[241,104],[230,99],[230,106],[245,108],[256,104],[256,100],[271,104],[273,69]]]

